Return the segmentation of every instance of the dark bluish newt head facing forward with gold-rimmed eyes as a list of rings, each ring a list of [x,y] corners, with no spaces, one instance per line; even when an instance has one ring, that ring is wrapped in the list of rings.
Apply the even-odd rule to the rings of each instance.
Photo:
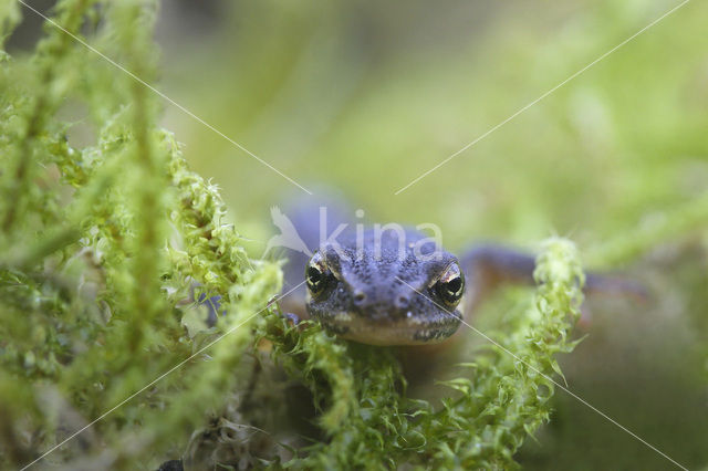
[[[416,231],[366,231],[322,245],[305,269],[306,308],[327,331],[371,345],[441,342],[460,325],[465,275]]]

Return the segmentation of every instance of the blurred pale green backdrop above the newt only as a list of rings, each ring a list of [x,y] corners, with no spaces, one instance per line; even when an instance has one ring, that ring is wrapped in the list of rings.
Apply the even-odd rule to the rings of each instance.
[[[178,4],[160,13],[167,95],[304,186],[439,223],[450,247],[551,231],[596,242],[706,189],[704,2],[395,198],[678,3]],[[165,122],[266,240],[269,205],[296,188],[179,109]]]

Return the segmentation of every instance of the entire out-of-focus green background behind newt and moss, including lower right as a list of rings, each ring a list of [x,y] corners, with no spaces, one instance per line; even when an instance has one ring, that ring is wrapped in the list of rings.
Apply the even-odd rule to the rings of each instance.
[[[398,196],[394,192],[676,1],[165,2],[162,90],[305,187],[451,250],[570,236],[648,303],[590,300],[562,359],[579,396],[689,468],[708,463],[706,226],[603,264],[708,189],[708,3],[689,2]],[[259,257],[299,190],[174,106],[165,125],[222,188]],[[596,257],[593,258],[592,254]],[[473,335],[473,334],[470,334]],[[671,464],[559,391],[528,469]]]

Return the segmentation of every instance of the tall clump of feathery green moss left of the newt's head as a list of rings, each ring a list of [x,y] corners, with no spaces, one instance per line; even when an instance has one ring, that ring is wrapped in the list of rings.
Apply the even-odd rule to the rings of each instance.
[[[60,2],[54,19],[79,34],[94,3]],[[105,52],[149,80],[154,8],[101,8]],[[46,460],[134,469],[184,446],[235,388],[225,371],[252,344],[250,316],[280,290],[278,266],[248,261],[215,188],[157,127],[156,97],[124,74],[107,84],[103,67],[53,27],[31,57],[3,63],[3,467],[27,464],[197,352],[179,305],[199,282],[231,312],[199,341],[242,326]],[[100,133],[77,149],[58,114],[82,102]],[[101,443],[110,451],[98,453]]]

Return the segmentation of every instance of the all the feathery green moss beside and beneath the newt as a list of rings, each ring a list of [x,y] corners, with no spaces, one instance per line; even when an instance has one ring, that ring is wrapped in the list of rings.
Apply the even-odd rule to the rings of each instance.
[[[0,7],[0,38],[19,12],[15,2]],[[53,18],[153,82],[154,14],[152,2],[64,0]],[[293,327],[269,304],[279,264],[247,255],[218,188],[159,128],[158,98],[144,85],[51,25],[28,57],[2,53],[0,64],[2,468],[33,461],[96,418],[45,460],[517,465],[563,381],[556,355],[576,344],[583,272],[572,242],[546,241],[535,291],[514,297],[493,343],[468,332],[469,355],[437,398],[413,397],[394,350],[313,322]],[[67,133],[80,125],[60,118],[76,104],[98,129],[93,145],[72,146]],[[593,260],[632,258],[701,223],[706,208],[702,199],[675,209]],[[216,327],[187,302],[195,286],[221,296],[228,315]]]

